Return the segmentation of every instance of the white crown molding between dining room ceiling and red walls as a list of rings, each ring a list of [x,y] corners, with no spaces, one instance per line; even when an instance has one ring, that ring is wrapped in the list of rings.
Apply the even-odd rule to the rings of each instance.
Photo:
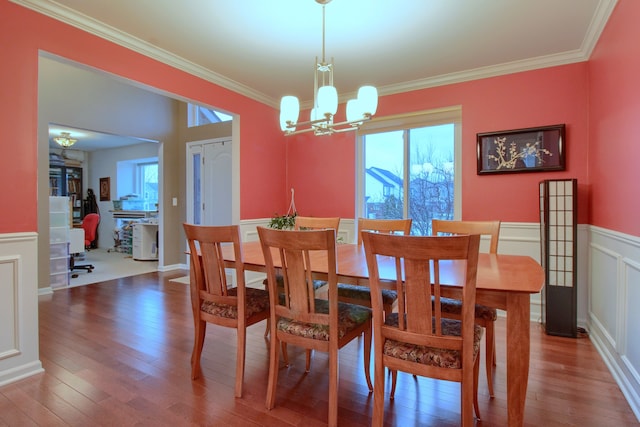
[[[269,105],[273,108],[279,108],[279,99],[273,99],[260,91],[252,89],[221,74],[215,73],[214,71],[211,71],[207,68],[201,67],[178,55],[175,55],[164,49],[160,49],[144,40],[133,37],[128,33],[122,32],[89,16],[80,14],[73,9],[56,3],[55,1],[10,1],[26,8],[32,9],[43,15],[49,16],[58,21],[69,24],[73,27],[79,28],[90,34],[109,40],[115,44],[131,49],[135,52],[153,58],[164,64],[192,74],[196,77],[200,77],[203,80],[237,92],[255,101]],[[601,0],[598,3],[596,13],[594,14],[593,20],[589,25],[589,29],[587,31],[587,34],[585,35],[582,46],[578,50],[563,52],[554,55],[540,56],[537,58],[529,58],[522,61],[513,61],[488,67],[475,68],[457,73],[444,74],[408,82],[395,83],[383,87],[378,87],[378,93],[380,96],[394,95],[398,93],[427,89],[431,87],[463,83],[472,80],[519,73],[523,71],[531,71],[541,68],[588,61],[617,2],[618,0]],[[344,93],[340,96],[340,102],[346,102],[347,99],[353,98],[354,96],[355,92]],[[301,103],[301,107],[310,108],[311,103],[312,101],[303,102]]]

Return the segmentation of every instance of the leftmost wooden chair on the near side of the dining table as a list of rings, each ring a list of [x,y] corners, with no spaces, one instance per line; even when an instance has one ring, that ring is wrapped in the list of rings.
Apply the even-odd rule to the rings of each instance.
[[[195,337],[191,378],[202,374],[200,357],[207,323],[237,330],[235,396],[242,397],[247,327],[269,318],[269,293],[245,285],[240,228],[237,225],[183,224],[191,258],[191,308]],[[236,286],[229,287],[222,245],[233,245]]]

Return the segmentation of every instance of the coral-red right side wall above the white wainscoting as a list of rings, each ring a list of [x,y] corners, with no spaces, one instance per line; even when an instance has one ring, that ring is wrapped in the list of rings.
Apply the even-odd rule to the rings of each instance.
[[[591,224],[640,236],[640,2],[620,0],[589,61]]]

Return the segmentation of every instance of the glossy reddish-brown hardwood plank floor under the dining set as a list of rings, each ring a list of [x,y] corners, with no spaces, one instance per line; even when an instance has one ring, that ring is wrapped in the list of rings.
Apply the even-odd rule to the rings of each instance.
[[[203,376],[190,379],[193,325],[186,272],[148,273],[41,297],[39,374],[0,388],[0,426],[321,426],[327,420],[328,360],[289,348],[276,407],[265,409],[268,341],[264,324],[248,331],[244,396],[233,397],[235,331],[209,326]],[[496,397],[480,373],[478,426],[506,426],[505,322],[496,323]],[[484,347],[483,347],[484,348]],[[483,363],[483,362],[481,362]],[[362,340],[340,353],[339,422],[367,426],[372,395]],[[385,388],[389,390],[387,381]],[[388,396],[388,394],[387,394]],[[388,426],[458,426],[459,385],[398,375],[387,400]],[[620,389],[586,338],[544,334],[531,325],[527,426],[638,425]]]

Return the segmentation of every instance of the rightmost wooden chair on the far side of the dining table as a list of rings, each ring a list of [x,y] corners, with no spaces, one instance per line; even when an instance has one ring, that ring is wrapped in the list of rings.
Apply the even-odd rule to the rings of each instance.
[[[440,234],[479,234],[489,236],[489,253],[498,253],[498,238],[500,236],[500,221],[449,221],[434,219],[431,221],[431,230],[434,236]],[[442,298],[440,301],[442,312],[447,316],[460,319],[462,307],[460,301],[452,298]],[[489,396],[494,396],[493,372],[496,366],[496,338],[495,322],[498,312],[493,307],[476,304],[476,323],[486,331],[485,366],[487,372],[487,386]]]

